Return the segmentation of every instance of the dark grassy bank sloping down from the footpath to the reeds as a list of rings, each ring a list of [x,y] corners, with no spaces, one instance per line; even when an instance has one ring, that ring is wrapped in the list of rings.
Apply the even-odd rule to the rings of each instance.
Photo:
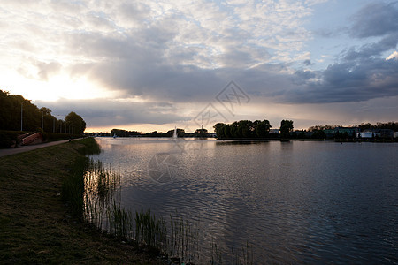
[[[64,178],[93,139],[0,158],[0,263],[158,264],[133,243],[73,217]],[[77,159],[77,160],[76,160]]]

